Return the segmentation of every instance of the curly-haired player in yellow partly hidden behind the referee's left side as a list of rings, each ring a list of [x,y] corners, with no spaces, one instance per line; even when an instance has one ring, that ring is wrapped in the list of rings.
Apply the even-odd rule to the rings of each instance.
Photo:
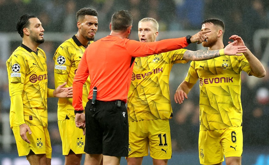
[[[67,82],[71,87],[79,62],[85,49],[94,40],[98,29],[98,13],[92,8],[83,8],[76,13],[78,32],[70,39],[64,41],[56,50],[53,57],[55,61],[55,86]],[[88,89],[90,79],[83,85],[83,107],[88,102]],[[82,129],[75,126],[75,114],[72,98],[60,98],[58,101],[58,126],[62,139],[65,165],[80,165],[84,154],[85,136]]]

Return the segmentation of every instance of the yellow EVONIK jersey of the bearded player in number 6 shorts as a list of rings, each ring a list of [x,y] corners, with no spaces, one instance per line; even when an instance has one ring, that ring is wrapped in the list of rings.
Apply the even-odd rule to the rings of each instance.
[[[244,55],[192,61],[185,81],[200,86],[200,130],[242,124],[241,71],[250,73]]]

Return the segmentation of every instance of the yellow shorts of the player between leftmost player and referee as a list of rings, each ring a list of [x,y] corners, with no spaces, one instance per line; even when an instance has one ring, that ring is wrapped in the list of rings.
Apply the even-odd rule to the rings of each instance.
[[[72,150],[75,154],[84,154],[85,136],[83,130],[75,126],[75,120],[58,120],[62,139],[63,155]]]

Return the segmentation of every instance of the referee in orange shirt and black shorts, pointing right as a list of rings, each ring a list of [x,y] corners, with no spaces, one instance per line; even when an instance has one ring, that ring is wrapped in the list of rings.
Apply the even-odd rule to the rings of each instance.
[[[210,32],[200,31],[188,39],[181,37],[142,43],[128,39],[131,28],[131,12],[116,11],[112,15],[110,35],[88,46],[75,74],[75,123],[79,128],[86,126],[84,165],[99,165],[102,155],[104,165],[116,165],[120,163],[121,156],[128,156],[128,116],[125,104],[135,57],[181,49],[192,42],[201,43],[206,39],[204,34]],[[89,75],[91,86],[84,114],[82,87]],[[94,87],[97,87],[96,100],[93,99]]]

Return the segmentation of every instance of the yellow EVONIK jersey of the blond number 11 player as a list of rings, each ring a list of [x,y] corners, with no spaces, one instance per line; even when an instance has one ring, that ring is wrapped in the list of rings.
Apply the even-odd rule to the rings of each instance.
[[[173,64],[181,60],[186,49],[148,57],[136,57],[128,92],[128,120],[169,119],[172,107],[169,75]]]

